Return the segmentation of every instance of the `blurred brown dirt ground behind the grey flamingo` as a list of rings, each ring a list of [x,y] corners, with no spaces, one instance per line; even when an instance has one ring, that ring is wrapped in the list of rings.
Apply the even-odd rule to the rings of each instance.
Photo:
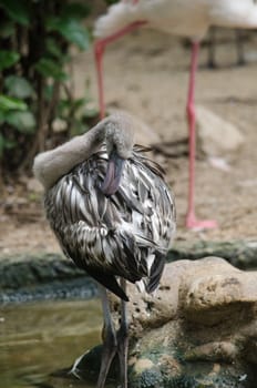
[[[224,38],[225,37],[225,38]],[[199,217],[216,218],[218,228],[193,232],[184,227],[187,203],[187,157],[157,156],[166,171],[177,205],[177,239],[255,238],[257,234],[257,35],[245,44],[247,65],[235,67],[234,33],[223,32],[217,45],[217,70],[207,70],[203,48],[197,74],[197,104],[234,123],[245,143],[228,160],[228,172],[205,159],[196,163],[196,208]],[[162,141],[187,134],[185,103],[189,50],[176,38],[144,30],[112,44],[105,55],[105,92],[109,108],[121,108],[151,125]],[[90,80],[93,101],[96,84],[91,52],[74,59],[78,95]],[[95,102],[96,103],[96,102]],[[29,188],[28,188],[29,187]],[[1,200],[0,254],[59,251],[44,221],[39,194],[27,180],[19,192],[11,185]]]

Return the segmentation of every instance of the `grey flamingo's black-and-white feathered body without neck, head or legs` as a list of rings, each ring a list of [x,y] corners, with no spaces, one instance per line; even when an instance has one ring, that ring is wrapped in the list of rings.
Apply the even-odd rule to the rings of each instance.
[[[75,166],[45,193],[47,217],[63,252],[119,297],[115,276],[153,292],[175,229],[174,201],[160,169],[134,147],[117,193],[101,191],[106,152]]]

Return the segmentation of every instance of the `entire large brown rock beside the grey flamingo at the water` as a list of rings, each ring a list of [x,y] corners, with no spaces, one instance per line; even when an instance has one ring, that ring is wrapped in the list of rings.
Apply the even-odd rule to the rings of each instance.
[[[184,259],[166,265],[155,295],[128,295],[131,387],[256,387],[257,272]]]

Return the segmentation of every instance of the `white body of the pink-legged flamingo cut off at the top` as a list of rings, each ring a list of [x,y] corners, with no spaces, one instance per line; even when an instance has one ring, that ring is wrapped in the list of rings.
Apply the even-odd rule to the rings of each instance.
[[[106,38],[140,20],[158,31],[201,40],[210,25],[256,28],[257,6],[253,0],[121,1],[96,20],[94,35]]]

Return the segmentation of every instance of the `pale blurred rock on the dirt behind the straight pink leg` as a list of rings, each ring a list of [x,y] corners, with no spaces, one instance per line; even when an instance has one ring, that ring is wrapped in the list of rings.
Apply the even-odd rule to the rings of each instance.
[[[240,131],[204,106],[196,108],[197,149],[207,156],[225,157],[244,143]]]

